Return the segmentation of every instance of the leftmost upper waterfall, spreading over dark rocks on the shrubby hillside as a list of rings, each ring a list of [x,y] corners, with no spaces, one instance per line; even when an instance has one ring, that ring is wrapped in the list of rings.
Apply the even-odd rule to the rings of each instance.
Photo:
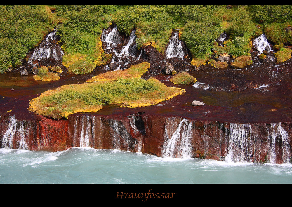
[[[48,34],[46,39],[44,39],[41,44],[34,49],[32,57],[29,58],[28,63],[32,64],[34,60],[41,60],[43,58],[54,58],[55,60],[62,60],[64,52],[57,44],[51,43],[51,41],[56,41],[56,29]]]

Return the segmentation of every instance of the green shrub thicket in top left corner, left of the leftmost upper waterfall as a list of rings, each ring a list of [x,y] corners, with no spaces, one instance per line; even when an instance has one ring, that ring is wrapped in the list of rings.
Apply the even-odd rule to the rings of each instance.
[[[19,65],[56,24],[48,6],[0,6],[0,73]]]

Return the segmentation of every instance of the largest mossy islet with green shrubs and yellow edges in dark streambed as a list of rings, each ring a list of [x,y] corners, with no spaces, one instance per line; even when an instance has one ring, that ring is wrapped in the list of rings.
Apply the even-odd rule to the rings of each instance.
[[[37,114],[61,119],[77,112],[96,112],[103,106],[142,107],[169,100],[185,92],[167,87],[155,78],[63,85],[48,90],[30,101],[29,110]]]

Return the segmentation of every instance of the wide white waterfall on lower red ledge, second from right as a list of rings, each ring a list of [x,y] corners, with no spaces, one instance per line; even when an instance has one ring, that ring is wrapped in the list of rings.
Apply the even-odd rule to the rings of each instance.
[[[248,162],[252,156],[249,151],[251,125],[230,123],[227,162]]]

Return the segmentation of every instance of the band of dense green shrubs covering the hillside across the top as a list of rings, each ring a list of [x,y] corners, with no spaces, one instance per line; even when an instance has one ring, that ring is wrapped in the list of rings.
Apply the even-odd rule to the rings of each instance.
[[[283,47],[284,43],[292,44],[292,6],[53,7],[55,13],[50,12],[49,6],[0,6],[0,73],[19,65],[20,60],[57,26],[58,20],[62,24],[57,26],[57,33],[65,54],[79,53],[92,62],[100,56],[94,53],[98,37],[112,21],[127,35],[136,29],[138,48],[154,41],[152,46],[162,53],[172,29],[180,29],[180,39],[185,41],[193,58],[199,59],[208,59],[215,51],[236,57],[248,55],[251,48],[248,41],[262,32],[278,45],[276,48]],[[231,39],[226,47],[220,48],[213,41],[223,31]],[[85,70],[91,71],[91,68]]]

